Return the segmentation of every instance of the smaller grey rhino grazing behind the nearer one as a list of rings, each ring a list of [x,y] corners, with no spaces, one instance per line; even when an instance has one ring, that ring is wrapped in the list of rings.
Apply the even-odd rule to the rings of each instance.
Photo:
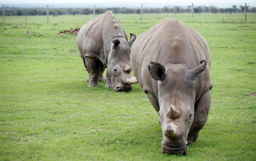
[[[136,39],[130,34],[128,42],[123,26],[112,11],[92,19],[80,29],[77,45],[84,66],[89,73],[88,87],[99,86],[105,80],[103,72],[107,68],[106,86],[115,91],[130,91],[137,79],[131,75],[131,45]]]

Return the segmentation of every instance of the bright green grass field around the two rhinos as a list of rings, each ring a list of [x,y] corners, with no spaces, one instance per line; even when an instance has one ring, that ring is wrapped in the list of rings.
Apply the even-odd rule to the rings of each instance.
[[[139,84],[87,87],[76,35],[92,15],[0,24],[0,160],[255,160],[256,14],[169,14],[211,49],[209,118],[186,156],[161,153],[159,116]],[[166,14],[116,15],[137,36]],[[6,34],[5,34],[6,33]]]

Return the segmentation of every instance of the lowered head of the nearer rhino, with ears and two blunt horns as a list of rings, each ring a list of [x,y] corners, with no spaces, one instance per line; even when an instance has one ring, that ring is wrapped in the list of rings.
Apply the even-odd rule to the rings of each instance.
[[[205,60],[190,70],[185,64],[168,64],[164,67],[151,62],[148,66],[152,78],[158,80],[163,153],[188,153],[187,137],[194,120],[195,79],[205,66]]]

